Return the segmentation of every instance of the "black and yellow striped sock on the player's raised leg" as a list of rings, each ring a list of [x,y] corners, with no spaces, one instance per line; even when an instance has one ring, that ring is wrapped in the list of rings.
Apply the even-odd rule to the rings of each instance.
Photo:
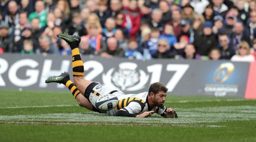
[[[72,50],[72,67],[73,76],[84,76],[84,64],[81,60],[78,48]]]

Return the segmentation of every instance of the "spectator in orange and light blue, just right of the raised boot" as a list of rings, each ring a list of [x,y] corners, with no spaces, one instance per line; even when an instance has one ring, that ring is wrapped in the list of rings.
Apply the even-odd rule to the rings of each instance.
[[[90,46],[94,48],[95,55],[97,55],[97,52],[100,51],[103,47],[106,46],[105,41],[102,39],[101,32],[101,24],[98,21],[95,24],[87,24],[88,29],[88,35],[86,35],[86,38],[89,40]]]

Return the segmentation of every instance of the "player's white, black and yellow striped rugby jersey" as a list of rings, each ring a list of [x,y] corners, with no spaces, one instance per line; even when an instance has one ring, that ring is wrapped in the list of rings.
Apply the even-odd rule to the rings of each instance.
[[[161,116],[164,116],[166,107],[154,107],[149,108],[148,104],[148,92],[142,92],[139,94],[128,94],[118,96],[118,104],[115,109],[107,111],[109,115],[115,116],[117,111],[124,110],[130,114],[139,115],[145,111],[153,111]]]

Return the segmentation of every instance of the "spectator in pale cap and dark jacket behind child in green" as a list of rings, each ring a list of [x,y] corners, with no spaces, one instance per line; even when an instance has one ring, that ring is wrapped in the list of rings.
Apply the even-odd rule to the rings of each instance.
[[[26,39],[29,39],[32,41],[33,43],[33,47],[34,50],[36,50],[36,48],[39,46],[37,39],[34,37],[34,35],[32,34],[32,29],[31,29],[31,25],[30,24],[25,24],[25,27],[23,28],[22,32],[21,32],[21,39],[19,41],[16,42],[14,48],[14,52],[21,52],[22,49],[24,49],[23,47],[23,43]]]

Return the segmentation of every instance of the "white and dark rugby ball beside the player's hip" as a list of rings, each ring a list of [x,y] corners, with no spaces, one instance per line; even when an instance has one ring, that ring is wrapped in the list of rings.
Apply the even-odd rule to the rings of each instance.
[[[96,100],[95,106],[99,110],[108,111],[115,108],[118,98],[113,94],[102,95]]]

